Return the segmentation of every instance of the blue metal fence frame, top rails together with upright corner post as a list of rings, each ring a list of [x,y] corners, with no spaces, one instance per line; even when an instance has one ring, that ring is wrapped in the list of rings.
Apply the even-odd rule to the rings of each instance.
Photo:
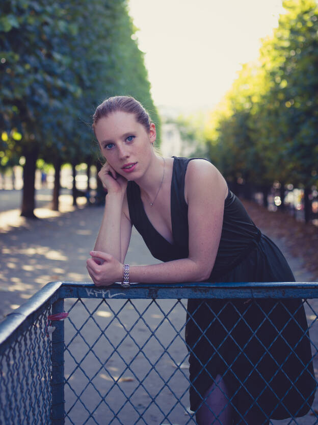
[[[88,282],[50,282],[25,304],[9,313],[0,323],[0,356],[4,355],[21,333],[33,325],[48,306],[51,306],[51,314],[56,314],[64,311],[65,298],[114,297],[116,299],[313,299],[318,298],[318,282],[131,284],[130,288],[122,288],[118,283],[109,287],[96,287]],[[54,321],[52,326],[56,329],[51,336],[50,423],[63,425],[65,423],[64,322]],[[318,414],[316,417],[318,418]],[[2,424],[11,425],[3,422],[0,410],[0,425]]]

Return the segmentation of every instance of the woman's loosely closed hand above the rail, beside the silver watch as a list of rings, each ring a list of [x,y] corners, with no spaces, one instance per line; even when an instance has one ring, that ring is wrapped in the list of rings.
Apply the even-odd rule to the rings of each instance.
[[[109,286],[122,281],[123,264],[111,254],[91,251],[86,268],[96,286]]]

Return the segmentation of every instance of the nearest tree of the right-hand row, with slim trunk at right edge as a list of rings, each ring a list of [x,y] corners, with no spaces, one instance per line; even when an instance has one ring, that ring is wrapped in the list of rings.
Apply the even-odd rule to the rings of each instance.
[[[318,170],[318,7],[314,0],[288,0],[283,5],[287,13],[261,49],[271,87],[264,96],[260,126],[267,123],[272,134],[268,139],[276,148],[279,180],[305,188],[307,222],[308,194],[317,183]]]

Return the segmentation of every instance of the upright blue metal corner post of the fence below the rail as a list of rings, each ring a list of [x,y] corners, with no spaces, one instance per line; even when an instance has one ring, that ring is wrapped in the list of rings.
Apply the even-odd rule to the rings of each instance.
[[[52,314],[64,311],[64,298],[52,304]],[[52,425],[64,425],[64,320],[52,321],[55,331],[52,333]]]

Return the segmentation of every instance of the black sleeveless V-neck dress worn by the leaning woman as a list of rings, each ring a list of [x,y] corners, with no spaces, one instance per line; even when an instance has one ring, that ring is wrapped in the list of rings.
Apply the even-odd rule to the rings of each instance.
[[[139,186],[128,182],[130,220],[151,254],[161,261],[189,255],[184,177],[190,160],[174,157],[172,244],[148,219]],[[278,247],[261,234],[231,191],[225,199],[221,240],[208,281],[295,281]],[[302,416],[312,405],[316,381],[301,299],[189,299],[186,344],[193,411],[218,374],[229,390],[237,419],[247,411],[259,418]]]

